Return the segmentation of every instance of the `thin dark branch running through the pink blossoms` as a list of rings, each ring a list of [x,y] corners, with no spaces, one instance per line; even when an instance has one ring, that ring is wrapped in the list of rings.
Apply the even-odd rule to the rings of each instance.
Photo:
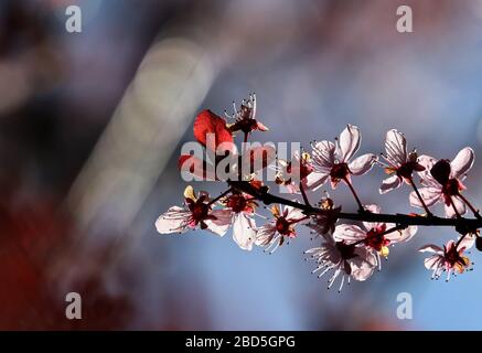
[[[291,201],[269,193],[266,189],[257,189],[247,181],[228,181],[228,184],[238,191],[250,194],[266,205],[271,203],[279,203],[303,211],[307,215],[323,214],[326,211],[311,205],[302,204],[297,201]],[[363,221],[363,222],[379,222],[379,223],[395,223],[404,226],[420,225],[420,226],[450,226],[454,227],[459,233],[467,234],[482,227],[482,220],[480,218],[442,218],[433,215],[414,216],[407,214],[384,214],[371,213],[367,211],[358,213],[340,212],[338,214],[340,220]]]

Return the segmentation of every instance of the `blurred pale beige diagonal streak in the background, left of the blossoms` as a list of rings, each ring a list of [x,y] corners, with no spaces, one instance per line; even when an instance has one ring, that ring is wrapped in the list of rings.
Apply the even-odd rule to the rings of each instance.
[[[68,205],[81,227],[130,225],[214,77],[205,50],[193,41],[151,46],[72,188]]]

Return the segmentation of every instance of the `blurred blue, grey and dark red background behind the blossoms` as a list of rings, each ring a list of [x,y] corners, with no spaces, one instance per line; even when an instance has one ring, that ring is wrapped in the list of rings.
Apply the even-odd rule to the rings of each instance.
[[[65,10],[82,9],[82,33]],[[414,33],[396,31],[396,9]],[[361,152],[404,131],[421,153],[482,151],[481,0],[2,0],[0,2],[0,329],[481,330],[475,269],[431,281],[419,229],[381,272],[342,293],[310,274],[308,231],[267,256],[231,233],[159,235],[182,202],[176,169],[192,121],[256,92],[259,141],[332,139]],[[482,163],[467,181],[482,205]],[[414,212],[383,171],[354,179],[364,203]],[[222,191],[223,185],[196,184]],[[332,196],[355,210],[349,191]],[[440,211],[440,210],[439,210]],[[83,319],[65,318],[65,296]],[[413,320],[398,320],[399,292]]]

